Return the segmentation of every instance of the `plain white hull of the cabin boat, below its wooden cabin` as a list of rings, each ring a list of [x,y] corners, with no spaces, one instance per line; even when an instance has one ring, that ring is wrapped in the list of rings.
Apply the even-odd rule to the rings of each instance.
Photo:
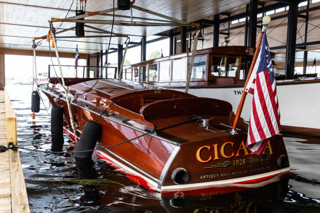
[[[176,89],[184,91],[184,89]],[[237,111],[243,87],[190,88],[189,93],[228,101]],[[320,128],[320,83],[277,85],[280,123],[289,126]],[[241,117],[249,121],[253,95],[248,94]]]

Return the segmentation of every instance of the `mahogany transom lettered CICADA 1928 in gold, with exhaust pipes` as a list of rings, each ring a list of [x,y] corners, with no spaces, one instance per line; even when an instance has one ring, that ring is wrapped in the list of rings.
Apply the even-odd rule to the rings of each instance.
[[[268,139],[256,155],[246,148],[246,134],[181,144],[161,186],[162,196],[217,194],[279,181],[290,171],[281,135]]]

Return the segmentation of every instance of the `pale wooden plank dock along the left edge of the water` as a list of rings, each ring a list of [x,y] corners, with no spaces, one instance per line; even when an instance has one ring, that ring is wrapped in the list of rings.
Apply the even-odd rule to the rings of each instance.
[[[0,145],[17,143],[16,116],[7,91],[0,91]],[[0,213],[30,213],[19,152],[0,152]]]

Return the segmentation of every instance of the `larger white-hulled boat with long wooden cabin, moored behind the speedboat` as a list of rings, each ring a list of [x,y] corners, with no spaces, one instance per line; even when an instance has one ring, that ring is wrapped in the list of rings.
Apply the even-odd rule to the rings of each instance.
[[[196,51],[189,93],[228,101],[236,109],[254,52],[254,47],[244,46]],[[185,91],[190,60],[191,53],[183,53],[131,64],[124,67],[122,79]],[[292,80],[275,76],[281,124],[320,128],[320,99],[316,98],[320,78],[315,76],[317,74],[297,74]],[[251,104],[252,95],[248,95],[241,114],[245,121],[249,121]]]

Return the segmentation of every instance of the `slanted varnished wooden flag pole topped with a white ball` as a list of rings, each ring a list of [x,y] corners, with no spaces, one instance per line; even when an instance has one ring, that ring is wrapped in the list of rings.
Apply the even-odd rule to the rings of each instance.
[[[270,16],[264,16],[262,18],[262,30],[261,30],[261,33],[260,33],[258,44],[256,46],[256,52],[255,52],[254,58],[252,60],[251,66],[250,66],[250,70],[249,70],[248,77],[247,77],[247,80],[246,80],[246,83],[245,83],[245,87],[244,87],[242,95],[241,95],[240,103],[239,103],[237,112],[235,114],[235,118],[234,118],[234,122],[233,122],[233,125],[232,125],[231,133],[236,133],[235,129],[236,129],[236,126],[238,124],[238,121],[239,121],[239,118],[240,118],[240,115],[241,115],[241,112],[242,112],[243,104],[245,102],[245,99],[246,99],[246,96],[247,96],[247,93],[248,93],[248,90],[246,90],[246,88],[247,88],[247,85],[248,85],[249,81],[252,79],[251,75],[252,75],[253,69],[254,69],[255,64],[256,64],[256,59],[257,59],[258,54],[259,54],[259,50],[260,50],[260,45],[261,45],[261,41],[262,41],[262,38],[263,38],[263,34],[264,34],[264,31],[266,30],[266,27],[269,24],[269,22],[270,22]]]

